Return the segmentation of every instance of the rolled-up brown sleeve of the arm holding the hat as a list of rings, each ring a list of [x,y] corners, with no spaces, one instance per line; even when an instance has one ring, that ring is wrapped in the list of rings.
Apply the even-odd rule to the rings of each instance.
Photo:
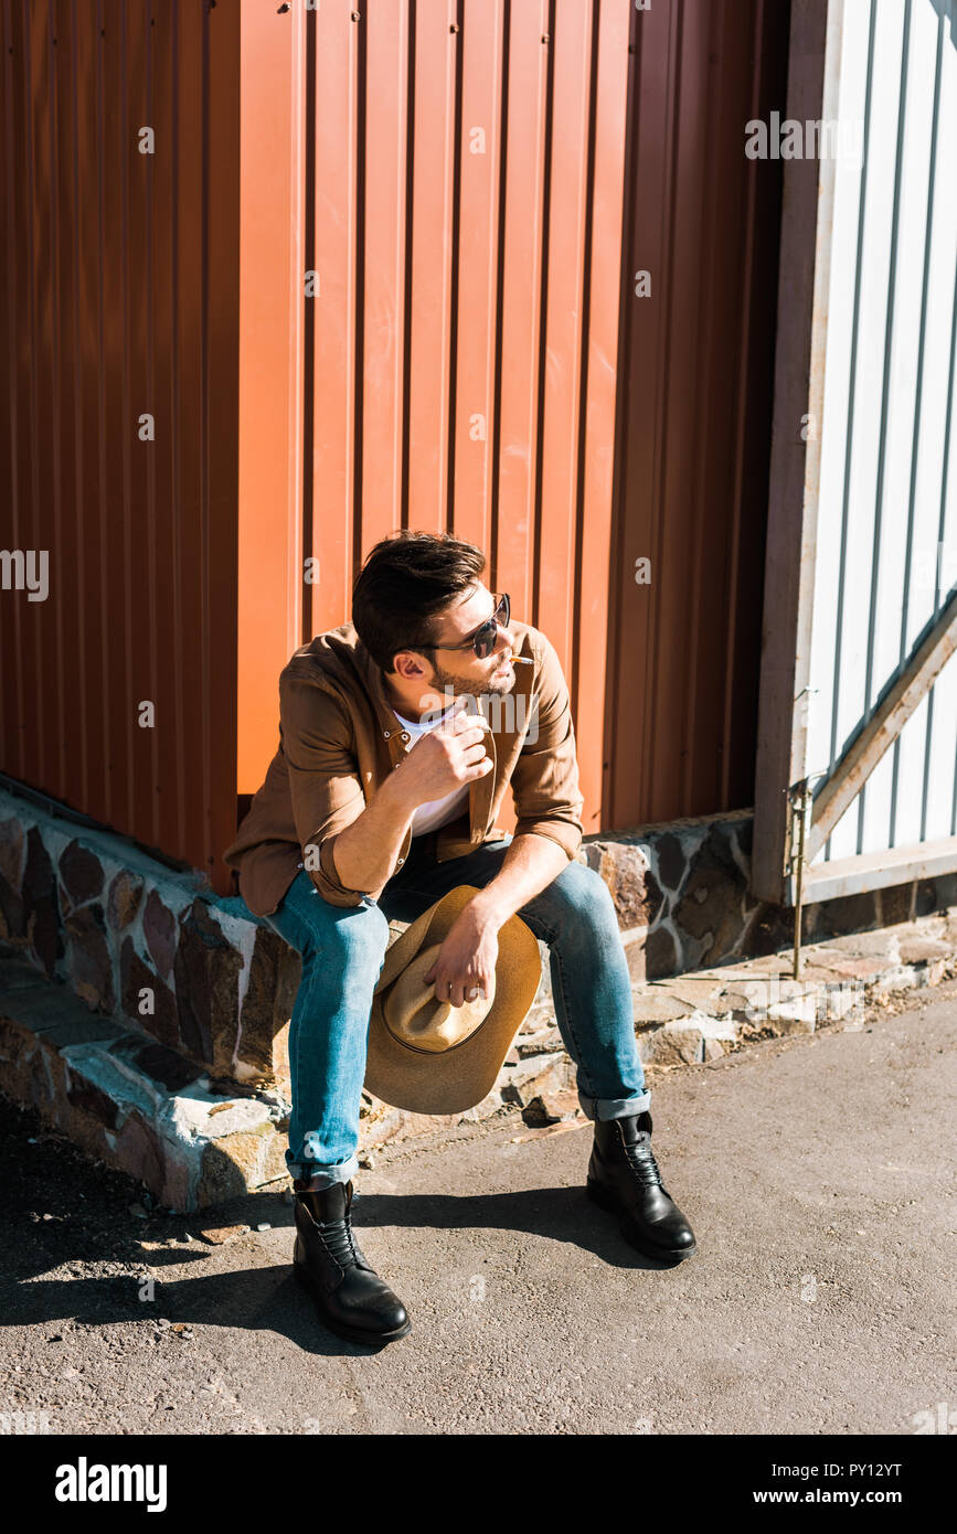
[[[529,727],[512,772],[515,836],[548,836],[572,861],[584,834],[572,706],[555,647],[541,632],[535,652]]]

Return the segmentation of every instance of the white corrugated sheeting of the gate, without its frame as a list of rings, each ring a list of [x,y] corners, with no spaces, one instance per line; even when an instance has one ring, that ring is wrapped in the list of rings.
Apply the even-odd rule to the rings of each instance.
[[[828,773],[957,583],[957,0],[847,3],[839,100],[807,753]],[[816,861],[955,833],[951,661]]]

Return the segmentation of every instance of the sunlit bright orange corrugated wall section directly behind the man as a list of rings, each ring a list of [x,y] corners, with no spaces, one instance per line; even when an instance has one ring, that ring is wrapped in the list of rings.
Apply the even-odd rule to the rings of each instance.
[[[305,143],[287,137],[307,187],[291,239],[316,291],[301,546],[298,515],[264,518],[252,430],[267,388],[298,391],[285,316],[268,382],[244,393],[239,612],[256,614],[256,655],[239,666],[241,790],[275,749],[290,618],[302,638],[342,623],[373,543],[452,528],[569,664],[598,824],[632,18],[629,0],[376,0],[359,18],[325,3],[258,23],[258,67],[305,98]],[[268,241],[265,264],[287,265],[288,219],[250,238],[255,262]]]

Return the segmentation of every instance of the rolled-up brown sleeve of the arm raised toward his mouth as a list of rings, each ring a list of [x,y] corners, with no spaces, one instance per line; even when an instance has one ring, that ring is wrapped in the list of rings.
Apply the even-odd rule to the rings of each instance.
[[[314,681],[279,678],[282,752],[304,868],[330,905],[360,905],[367,890],[347,888],[336,871],[336,838],[365,810],[345,706]]]

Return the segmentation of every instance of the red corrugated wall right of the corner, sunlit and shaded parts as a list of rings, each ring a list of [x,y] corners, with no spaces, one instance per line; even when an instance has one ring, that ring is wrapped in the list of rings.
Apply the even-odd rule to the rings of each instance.
[[[417,526],[486,548],[555,643],[587,830],[750,804],[779,167],[745,158],[744,124],[782,100],[787,23],[787,0],[262,17],[259,67],[271,40],[275,94],[305,100],[293,267],[316,295],[290,321],[302,514],[273,514],[270,546],[259,489],[241,514],[241,790],[275,746],[291,629],[342,623],[370,546]],[[262,230],[282,268],[288,219]],[[299,388],[284,324],[273,400]],[[284,454],[278,434],[285,486]]]

